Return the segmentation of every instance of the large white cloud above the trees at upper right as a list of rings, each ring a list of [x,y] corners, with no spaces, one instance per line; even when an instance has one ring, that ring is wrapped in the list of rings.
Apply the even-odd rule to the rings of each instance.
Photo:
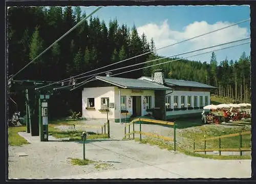
[[[200,21],[200,22],[195,21],[192,24],[185,26],[182,31],[176,31],[173,28],[169,27],[168,20],[166,19],[163,22],[160,22],[159,25],[151,23],[151,24],[138,27],[137,30],[140,35],[144,32],[148,40],[150,40],[153,37],[153,39],[155,40],[156,48],[159,49],[159,48],[165,47],[166,45],[170,45],[178,41],[195,37],[200,34],[214,31],[216,29],[220,29],[229,25],[231,25],[230,22],[219,21],[213,25],[210,25],[206,21]],[[236,26],[229,27],[227,29],[223,29],[208,35],[201,36],[199,38],[195,38],[195,39],[174,45],[173,47],[159,50],[158,54],[163,56],[171,56],[171,55],[180,54],[183,52],[188,52],[192,50],[209,47],[216,44],[221,44],[221,43],[225,43],[225,42],[229,42],[237,39],[242,39],[248,36],[250,35],[246,28],[242,28],[236,25]],[[226,46],[227,45],[223,47],[226,47]],[[217,48],[214,48],[214,49],[217,49]],[[217,59],[224,60],[226,56],[228,57],[228,59],[238,59],[238,57],[244,51],[242,49],[244,49],[244,47],[241,48],[241,52],[239,53],[237,53],[237,50],[236,50],[236,54],[232,52],[234,51],[232,49],[225,50],[225,52],[220,51],[221,55],[219,55],[218,57],[218,53],[217,53]],[[207,51],[210,51],[210,50],[207,50]],[[206,50],[201,51],[200,53],[202,52],[206,52]],[[246,52],[247,54],[249,54],[250,51],[246,51]],[[197,54],[197,53],[191,53],[189,55],[193,55],[193,54]],[[202,55],[200,57],[197,57],[196,59],[201,61],[206,61],[206,60],[209,60],[208,56],[209,55]]]

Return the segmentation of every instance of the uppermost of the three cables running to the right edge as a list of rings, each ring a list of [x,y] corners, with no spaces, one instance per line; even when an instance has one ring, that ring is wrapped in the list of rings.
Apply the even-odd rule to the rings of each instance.
[[[194,37],[191,37],[191,38],[188,38],[188,39],[182,40],[182,41],[178,41],[178,42],[176,42],[176,43],[169,44],[169,45],[167,45],[167,46],[165,46],[165,47],[162,47],[162,48],[156,49],[156,51],[161,50],[161,49],[165,49],[165,48],[167,48],[167,47],[171,47],[171,46],[173,46],[173,45],[176,45],[176,44],[179,44],[179,43],[182,43],[182,42],[185,42],[185,41],[189,41],[189,40],[191,40],[191,39],[195,39],[195,38],[198,38],[198,37],[201,37],[201,36],[204,36],[204,35],[210,34],[210,33],[214,33],[214,32],[217,32],[217,31],[220,31],[220,30],[223,30],[223,29],[226,29],[226,28],[232,27],[232,26],[236,26],[236,25],[242,24],[243,22],[246,22],[246,21],[249,21],[249,20],[250,20],[250,18],[245,19],[245,20],[242,20],[242,21],[239,21],[239,22],[236,22],[236,23],[234,23],[234,24],[231,24],[231,25],[229,25],[229,26],[226,26],[226,27],[223,27],[223,28],[220,28],[220,29],[216,29],[216,30],[214,30],[214,31],[210,31],[210,32],[207,32],[207,33],[204,33],[204,34],[198,35],[198,36],[194,36]],[[112,66],[112,65],[115,65],[115,64],[118,64],[118,63],[121,63],[121,62],[127,61],[127,60],[131,60],[131,59],[134,59],[134,58],[137,58],[137,57],[140,57],[140,56],[146,55],[146,54],[153,53],[153,52],[154,52],[154,51],[150,51],[150,52],[146,52],[146,53],[143,53],[143,54],[140,54],[140,55],[137,55],[137,56],[131,57],[131,58],[127,58],[127,59],[124,59],[124,60],[122,60],[122,61],[118,61],[118,62],[116,62],[116,63],[112,63],[112,64],[109,64],[109,65],[106,65],[106,66],[102,66],[102,67],[96,68],[95,70],[88,71],[88,72],[85,72],[85,73],[82,73],[82,74],[76,75],[76,76],[74,76],[74,77],[78,77],[78,76],[81,76],[81,75],[84,75],[84,74],[88,74],[88,73],[90,73],[90,72],[94,72],[94,71],[100,70],[100,69],[102,69],[102,68],[105,68],[105,67],[108,67],[108,66]],[[54,82],[54,83],[52,83],[52,84],[48,84],[48,85],[46,85],[46,86],[53,85],[53,84],[56,84],[56,83],[60,83],[60,82],[67,81],[67,80],[69,80],[69,78],[67,78],[67,79],[63,79],[63,80],[61,80],[61,81]],[[43,87],[46,87],[46,86],[41,86],[41,87],[38,87],[38,88],[36,88],[36,89],[43,88]]]

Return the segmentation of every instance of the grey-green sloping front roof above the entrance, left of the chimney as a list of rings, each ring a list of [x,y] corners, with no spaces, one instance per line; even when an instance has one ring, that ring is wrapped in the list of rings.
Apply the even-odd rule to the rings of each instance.
[[[122,88],[130,88],[130,89],[159,89],[159,90],[171,90],[172,88],[166,87],[164,85],[156,84],[150,81],[139,80],[139,79],[127,79],[127,78],[119,78],[119,77],[102,77],[95,76],[96,79],[99,79],[104,82],[108,82],[110,84],[122,87]]]

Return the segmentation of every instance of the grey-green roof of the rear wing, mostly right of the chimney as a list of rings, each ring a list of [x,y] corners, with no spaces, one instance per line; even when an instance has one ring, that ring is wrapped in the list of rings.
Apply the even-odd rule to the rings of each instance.
[[[145,78],[145,80],[152,81],[151,77],[141,77]],[[211,85],[207,85],[200,82],[195,81],[186,81],[186,80],[179,80],[179,79],[164,79],[164,83],[168,86],[185,86],[185,87],[202,87],[202,88],[217,88]]]

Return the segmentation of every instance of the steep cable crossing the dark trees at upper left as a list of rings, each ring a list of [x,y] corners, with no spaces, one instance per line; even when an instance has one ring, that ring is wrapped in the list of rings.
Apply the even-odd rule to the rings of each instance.
[[[77,26],[79,26],[84,20],[86,20],[87,18],[89,18],[91,15],[93,15],[95,12],[97,12],[99,9],[101,9],[102,7],[98,7],[96,10],[94,10],[92,13],[90,13],[87,17],[84,17],[81,21],[79,21],[73,28],[71,28],[68,32],[66,32],[65,34],[63,34],[59,39],[57,39],[56,41],[54,41],[46,50],[42,51],[37,57],[35,57],[32,61],[30,61],[27,65],[25,65],[22,69],[20,69],[16,74],[14,74],[13,76],[10,77],[13,78],[15,77],[18,73],[22,72],[28,65],[30,65],[32,62],[34,62],[37,58],[39,58],[42,54],[44,54],[46,51],[48,51],[51,47],[53,47],[53,45],[55,43],[57,43],[59,40],[61,40],[63,37],[65,37],[66,35],[68,35],[71,31],[73,31]]]

